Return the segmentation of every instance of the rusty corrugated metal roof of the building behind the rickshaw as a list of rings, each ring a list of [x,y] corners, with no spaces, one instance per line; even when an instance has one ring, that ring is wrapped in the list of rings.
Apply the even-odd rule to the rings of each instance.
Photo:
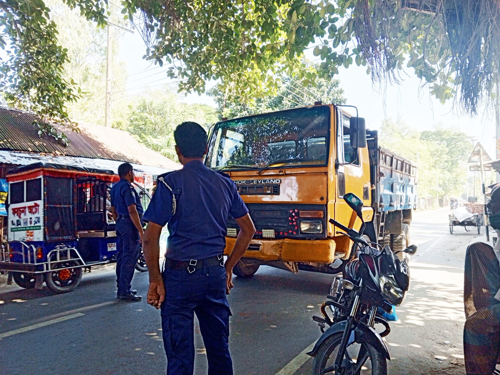
[[[126,131],[80,123],[81,132],[62,129],[68,146],[49,136],[38,137],[33,113],[0,107],[0,149],[79,156],[178,169],[180,164],[135,140]]]

